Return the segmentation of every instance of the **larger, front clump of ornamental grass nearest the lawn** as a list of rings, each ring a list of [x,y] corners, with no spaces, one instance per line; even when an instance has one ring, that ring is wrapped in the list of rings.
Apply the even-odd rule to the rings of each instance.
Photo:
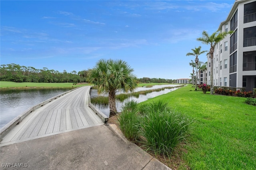
[[[147,151],[170,158],[174,148],[186,140],[191,123],[178,112],[150,111],[140,123],[142,143]]]

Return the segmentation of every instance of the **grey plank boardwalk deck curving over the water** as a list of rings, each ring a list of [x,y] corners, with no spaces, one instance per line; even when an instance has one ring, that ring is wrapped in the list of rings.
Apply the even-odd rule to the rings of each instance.
[[[90,86],[80,87],[29,113],[1,136],[0,146],[86,127],[103,125],[89,107]]]

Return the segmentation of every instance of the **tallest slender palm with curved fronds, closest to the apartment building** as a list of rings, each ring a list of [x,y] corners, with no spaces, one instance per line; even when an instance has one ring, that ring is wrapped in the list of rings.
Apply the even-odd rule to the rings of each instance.
[[[212,35],[209,36],[209,34],[206,31],[202,32],[202,37],[197,38],[196,40],[202,42],[203,44],[209,44],[210,45],[210,57],[211,57],[211,75],[210,75],[210,94],[213,95],[213,53],[214,53],[214,47],[216,43],[223,40],[228,34],[232,34],[234,31],[229,32],[220,32],[219,30],[212,33]]]

